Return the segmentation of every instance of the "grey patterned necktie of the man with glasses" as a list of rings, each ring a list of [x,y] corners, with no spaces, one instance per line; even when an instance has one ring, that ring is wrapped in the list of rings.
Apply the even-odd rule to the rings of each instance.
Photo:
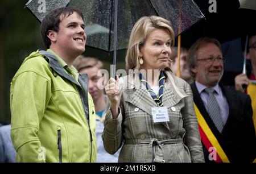
[[[208,112],[209,112],[210,118],[212,118],[212,121],[214,125],[217,127],[218,131],[222,132],[223,122],[221,119],[220,107],[218,106],[216,98],[213,96],[214,89],[206,88],[205,92],[207,92],[209,95],[207,100],[207,103],[208,103],[207,106],[208,106]]]

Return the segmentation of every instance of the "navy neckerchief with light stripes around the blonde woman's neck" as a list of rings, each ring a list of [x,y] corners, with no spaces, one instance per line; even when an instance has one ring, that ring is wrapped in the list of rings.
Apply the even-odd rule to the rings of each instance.
[[[143,82],[143,84],[146,86],[147,91],[150,93],[151,97],[154,99],[154,101],[156,102],[156,104],[158,106],[163,106],[162,103],[162,98],[163,98],[163,87],[164,87],[164,78],[166,78],[166,76],[164,76],[163,71],[160,72],[160,76],[159,76],[159,96],[156,96],[156,94],[154,93],[154,91],[151,89],[150,85],[148,84],[148,82],[145,80],[145,78],[143,77],[142,73],[139,73],[139,79]]]

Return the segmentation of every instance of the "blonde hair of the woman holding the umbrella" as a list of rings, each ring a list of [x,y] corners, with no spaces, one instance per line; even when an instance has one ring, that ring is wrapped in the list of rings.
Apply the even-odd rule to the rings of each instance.
[[[139,49],[146,42],[148,33],[155,29],[167,30],[171,36],[171,39],[173,40],[172,43],[174,43],[174,30],[171,27],[171,23],[167,19],[160,16],[143,16],[135,23],[133,30],[131,31],[125,57],[127,72],[129,72],[129,69],[137,69],[140,67]],[[169,63],[171,64],[171,59]]]

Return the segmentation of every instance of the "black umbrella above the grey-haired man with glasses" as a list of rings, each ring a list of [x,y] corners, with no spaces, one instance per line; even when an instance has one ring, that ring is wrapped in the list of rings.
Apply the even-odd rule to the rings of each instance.
[[[240,1],[246,0],[216,0],[216,13],[210,13],[208,0],[195,0],[205,15],[205,20],[194,24],[183,32],[181,45],[190,47],[201,37],[212,37],[220,43],[253,34],[256,31],[256,10],[242,9]],[[247,1],[256,4],[256,1]]]

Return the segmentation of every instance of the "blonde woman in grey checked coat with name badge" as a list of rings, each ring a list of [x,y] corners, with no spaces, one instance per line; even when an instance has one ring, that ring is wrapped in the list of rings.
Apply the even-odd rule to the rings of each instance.
[[[129,74],[105,87],[102,139],[110,154],[122,148],[118,162],[204,162],[191,88],[168,68],[173,39],[168,20],[139,19],[126,54]]]

